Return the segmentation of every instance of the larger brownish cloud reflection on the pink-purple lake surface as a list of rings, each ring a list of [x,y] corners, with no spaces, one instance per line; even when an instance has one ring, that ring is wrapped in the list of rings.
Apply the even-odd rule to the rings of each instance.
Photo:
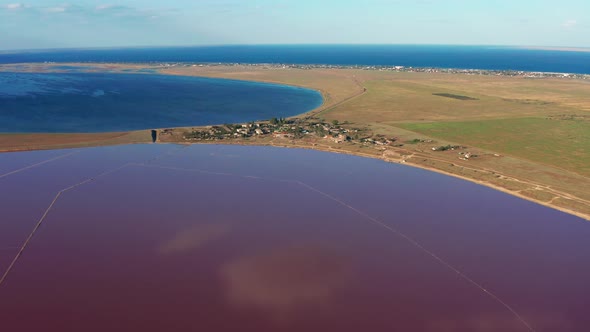
[[[350,278],[346,257],[321,247],[276,248],[227,263],[228,299],[280,319],[298,307],[326,304]]]

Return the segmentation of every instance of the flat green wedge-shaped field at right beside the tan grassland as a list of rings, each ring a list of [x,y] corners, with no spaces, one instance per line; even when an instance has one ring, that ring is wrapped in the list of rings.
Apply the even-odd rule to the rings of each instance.
[[[516,118],[400,123],[430,137],[466,144],[590,176],[590,121]]]

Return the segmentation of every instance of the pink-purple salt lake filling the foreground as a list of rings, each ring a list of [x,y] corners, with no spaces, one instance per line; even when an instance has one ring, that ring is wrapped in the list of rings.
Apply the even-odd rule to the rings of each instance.
[[[10,331],[590,324],[590,224],[459,179],[238,146],[24,152],[0,165],[0,273],[74,186],[0,284]]]

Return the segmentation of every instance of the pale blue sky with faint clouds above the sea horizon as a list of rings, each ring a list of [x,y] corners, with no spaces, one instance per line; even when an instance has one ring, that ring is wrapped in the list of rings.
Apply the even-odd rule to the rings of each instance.
[[[216,44],[590,47],[589,0],[0,0],[0,49]]]

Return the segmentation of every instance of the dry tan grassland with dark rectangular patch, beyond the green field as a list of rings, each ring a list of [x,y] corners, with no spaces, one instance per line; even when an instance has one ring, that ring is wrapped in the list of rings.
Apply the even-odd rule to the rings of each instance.
[[[334,117],[392,123],[545,117],[590,111],[590,82],[426,73],[367,72],[358,76],[367,93],[334,110]]]

